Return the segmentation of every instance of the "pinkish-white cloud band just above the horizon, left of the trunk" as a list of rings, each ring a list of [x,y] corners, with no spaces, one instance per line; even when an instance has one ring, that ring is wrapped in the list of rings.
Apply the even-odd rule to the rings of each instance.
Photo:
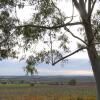
[[[92,70],[72,70],[72,69],[62,69],[62,70],[50,70],[46,68],[39,68],[38,69],[39,75],[83,75],[83,76],[90,76],[93,75]]]

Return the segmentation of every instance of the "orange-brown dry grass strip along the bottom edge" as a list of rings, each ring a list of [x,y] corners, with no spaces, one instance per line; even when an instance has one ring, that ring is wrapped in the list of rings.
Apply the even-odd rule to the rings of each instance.
[[[1,97],[0,100],[96,100],[95,96],[32,96],[32,95],[23,95],[23,96],[4,96]]]

